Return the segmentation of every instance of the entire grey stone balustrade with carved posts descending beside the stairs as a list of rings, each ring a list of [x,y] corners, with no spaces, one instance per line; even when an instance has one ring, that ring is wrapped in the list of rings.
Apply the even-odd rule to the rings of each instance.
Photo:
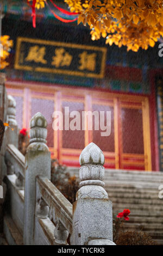
[[[11,107],[14,99],[9,96]],[[15,113],[12,109],[12,113]],[[11,120],[12,119],[12,120]],[[9,117],[17,131],[15,114]],[[12,122],[11,122],[12,121]],[[104,190],[104,155],[90,143],[80,155],[80,188],[73,205],[51,182],[51,154],[46,145],[47,121],[37,113],[30,121],[26,157],[17,147],[17,132],[7,129],[4,234],[9,244],[24,245],[114,245],[112,204]],[[14,137],[12,137],[14,136]],[[11,139],[12,138],[12,139]],[[11,141],[11,142],[10,142]],[[9,221],[10,220],[10,221]],[[11,239],[9,222],[22,237]],[[9,227],[10,226],[10,227]],[[68,242],[67,242],[68,241]]]

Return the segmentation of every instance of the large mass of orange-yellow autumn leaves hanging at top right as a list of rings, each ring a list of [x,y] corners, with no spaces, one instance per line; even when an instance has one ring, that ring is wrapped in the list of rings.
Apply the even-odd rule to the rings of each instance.
[[[79,14],[78,24],[89,25],[92,40],[106,38],[106,44],[147,50],[163,36],[162,0],[64,0]]]

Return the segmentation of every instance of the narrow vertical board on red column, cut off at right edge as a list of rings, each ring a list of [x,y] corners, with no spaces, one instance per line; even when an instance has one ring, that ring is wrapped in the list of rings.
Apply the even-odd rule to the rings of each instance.
[[[160,170],[163,171],[163,77],[156,77],[156,99],[158,108]]]

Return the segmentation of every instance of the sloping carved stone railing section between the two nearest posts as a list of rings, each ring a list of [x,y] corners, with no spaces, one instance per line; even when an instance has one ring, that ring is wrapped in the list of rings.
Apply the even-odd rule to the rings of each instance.
[[[54,236],[55,244],[67,245],[68,235],[72,234],[72,204],[51,181],[40,176],[37,177],[36,202],[36,217],[42,228],[46,230],[46,225],[42,219],[47,217],[55,224],[54,234],[49,236],[49,239]],[[37,244],[40,242],[39,234],[38,236],[35,235],[35,241]]]

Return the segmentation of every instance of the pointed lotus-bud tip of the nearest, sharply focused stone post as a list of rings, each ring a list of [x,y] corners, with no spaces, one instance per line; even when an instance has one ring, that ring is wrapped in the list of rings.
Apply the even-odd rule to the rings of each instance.
[[[86,163],[103,165],[104,160],[105,159],[102,150],[93,142],[91,142],[85,147],[85,149],[83,149],[79,157],[81,166]]]

